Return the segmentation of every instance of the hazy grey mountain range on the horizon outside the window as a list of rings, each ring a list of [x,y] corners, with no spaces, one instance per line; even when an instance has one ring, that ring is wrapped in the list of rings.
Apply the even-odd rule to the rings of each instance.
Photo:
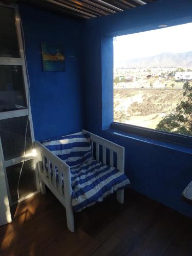
[[[192,67],[192,51],[184,53],[164,52],[151,57],[142,57],[122,61],[118,67],[126,68],[174,68]]]

